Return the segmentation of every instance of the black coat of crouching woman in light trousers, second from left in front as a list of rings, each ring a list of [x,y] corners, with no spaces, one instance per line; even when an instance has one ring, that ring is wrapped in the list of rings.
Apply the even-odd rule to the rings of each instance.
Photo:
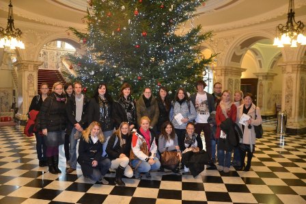
[[[117,137],[117,142],[116,144],[114,144],[116,137]],[[113,133],[111,138],[109,138],[109,143],[107,143],[107,149],[106,149],[109,160],[115,160],[119,158],[121,153],[125,154],[126,157],[130,157],[131,144],[132,144],[132,135],[127,136],[126,145],[124,146],[124,148],[122,148],[122,146],[120,146],[119,137],[117,136],[117,134]]]

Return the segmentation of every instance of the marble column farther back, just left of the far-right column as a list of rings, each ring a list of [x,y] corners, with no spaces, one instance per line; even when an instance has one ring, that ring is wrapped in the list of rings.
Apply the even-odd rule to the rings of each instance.
[[[258,99],[257,105],[260,107],[262,116],[274,116],[275,104],[273,104],[273,79],[275,73],[254,73],[258,77]]]

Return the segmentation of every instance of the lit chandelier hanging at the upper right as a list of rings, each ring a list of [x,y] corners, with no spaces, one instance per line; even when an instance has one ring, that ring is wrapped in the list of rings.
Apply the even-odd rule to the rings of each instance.
[[[290,0],[287,23],[285,25],[279,24],[276,27],[276,37],[273,45],[283,47],[284,44],[291,44],[290,47],[297,47],[297,43],[306,44],[306,36],[303,35],[305,25],[301,21],[296,22],[294,14],[294,0]],[[279,37],[277,36],[277,31],[279,32]]]

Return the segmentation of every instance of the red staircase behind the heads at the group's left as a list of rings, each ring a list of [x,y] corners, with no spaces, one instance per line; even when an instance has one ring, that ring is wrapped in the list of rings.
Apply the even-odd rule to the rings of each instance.
[[[52,90],[53,84],[57,81],[65,84],[64,77],[59,73],[58,70],[54,69],[38,69],[38,90],[40,90],[40,84],[48,83],[50,91]]]

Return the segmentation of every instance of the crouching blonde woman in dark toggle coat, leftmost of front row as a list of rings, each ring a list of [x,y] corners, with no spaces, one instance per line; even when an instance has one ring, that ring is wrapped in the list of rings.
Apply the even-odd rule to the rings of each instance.
[[[102,143],[105,142],[100,123],[94,121],[83,131],[79,143],[78,162],[84,177],[89,177],[100,184],[109,184],[104,176],[111,167],[111,161],[102,157]]]

